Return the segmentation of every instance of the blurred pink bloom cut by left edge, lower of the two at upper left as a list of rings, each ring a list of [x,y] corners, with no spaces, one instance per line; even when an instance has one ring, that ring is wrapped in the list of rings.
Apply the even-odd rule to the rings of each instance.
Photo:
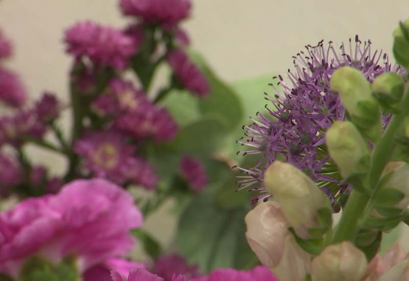
[[[26,99],[26,90],[17,75],[0,68],[0,101],[13,107],[21,107]]]

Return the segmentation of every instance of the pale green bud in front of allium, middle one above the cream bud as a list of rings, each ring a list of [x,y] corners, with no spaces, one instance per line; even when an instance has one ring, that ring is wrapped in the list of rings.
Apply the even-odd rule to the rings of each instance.
[[[354,124],[336,121],[326,133],[329,155],[344,179],[368,169],[369,149]]]

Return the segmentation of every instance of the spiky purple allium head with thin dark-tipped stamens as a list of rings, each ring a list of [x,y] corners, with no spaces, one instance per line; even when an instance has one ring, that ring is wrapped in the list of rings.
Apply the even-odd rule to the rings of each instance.
[[[387,54],[371,52],[371,41],[363,44],[355,37],[355,46],[350,40],[349,48],[344,44],[336,51],[332,42],[326,47],[323,41],[316,46],[307,45],[306,52],[294,56],[294,70],[288,69],[289,84],[278,77],[281,93],[273,86],[276,94],[267,96],[272,108],[268,115],[260,112],[252,119],[253,124],[244,126],[245,137],[238,143],[251,147],[245,154],[260,154],[260,161],[251,169],[239,168],[247,173],[238,181],[239,189],[261,191],[255,201],[266,200],[263,172],[277,157],[285,160],[310,176],[320,188],[332,195],[346,188],[335,163],[329,158],[325,146],[325,132],[335,120],[345,119],[345,109],[337,92],[330,90],[329,80],[335,69],[350,66],[362,72],[370,82],[385,72],[403,75],[403,69],[389,62]],[[275,77],[277,79],[277,77]],[[383,122],[387,122],[384,118]],[[239,153],[239,152],[238,152]],[[256,186],[253,186],[255,185]],[[258,185],[258,186],[257,186]],[[261,186],[260,186],[261,185]]]

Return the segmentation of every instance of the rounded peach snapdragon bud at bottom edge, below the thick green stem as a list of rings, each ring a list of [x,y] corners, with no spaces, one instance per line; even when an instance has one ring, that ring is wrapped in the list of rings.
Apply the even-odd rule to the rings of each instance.
[[[368,262],[351,242],[327,246],[312,260],[312,281],[360,281]]]

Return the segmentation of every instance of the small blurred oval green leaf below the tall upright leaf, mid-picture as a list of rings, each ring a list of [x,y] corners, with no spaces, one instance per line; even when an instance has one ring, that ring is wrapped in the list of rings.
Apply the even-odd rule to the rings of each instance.
[[[222,146],[227,123],[222,117],[208,114],[181,128],[170,147],[186,153],[211,153]]]

